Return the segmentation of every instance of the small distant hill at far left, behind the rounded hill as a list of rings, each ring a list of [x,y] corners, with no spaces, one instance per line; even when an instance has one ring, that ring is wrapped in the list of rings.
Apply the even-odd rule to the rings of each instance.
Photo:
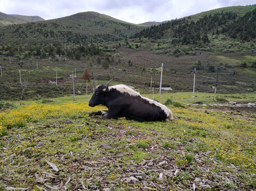
[[[27,22],[44,21],[40,16],[23,16],[14,14],[5,14],[0,12],[0,27],[11,25],[11,24],[21,24]]]

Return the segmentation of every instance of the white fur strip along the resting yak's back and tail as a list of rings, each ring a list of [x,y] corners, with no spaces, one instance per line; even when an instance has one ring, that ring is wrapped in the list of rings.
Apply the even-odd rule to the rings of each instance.
[[[131,96],[139,96],[141,97],[142,99],[145,99],[147,100],[149,103],[151,104],[154,104],[155,106],[158,106],[160,107],[167,115],[167,120],[172,120],[174,119],[174,116],[172,115],[172,112],[170,109],[168,109],[166,106],[162,105],[161,103],[157,102],[157,101],[154,101],[152,99],[148,99],[148,98],[145,98],[145,97],[142,97],[141,94],[139,94],[138,92],[132,90],[131,88],[129,88],[127,85],[123,85],[123,84],[119,84],[119,85],[113,85],[113,86],[110,86],[109,87],[109,90],[111,89],[116,89],[118,91],[120,91],[121,93],[128,93],[130,94]]]

